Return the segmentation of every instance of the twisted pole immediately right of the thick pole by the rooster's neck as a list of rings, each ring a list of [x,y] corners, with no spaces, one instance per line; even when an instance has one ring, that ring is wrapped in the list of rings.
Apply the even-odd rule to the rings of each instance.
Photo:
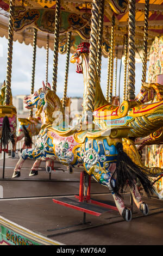
[[[98,29],[98,45],[97,45],[97,74],[99,81],[101,80],[101,61],[102,61],[102,41],[103,41],[103,21],[104,21],[105,0],[101,0],[99,8],[99,29]]]

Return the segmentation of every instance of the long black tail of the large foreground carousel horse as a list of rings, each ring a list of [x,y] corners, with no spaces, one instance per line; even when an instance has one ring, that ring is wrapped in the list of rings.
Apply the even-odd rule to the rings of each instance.
[[[110,186],[116,196],[121,197],[123,188],[128,184],[130,187],[135,188],[136,180],[139,179],[148,197],[155,191],[152,180],[150,180],[145,173],[146,169],[137,166],[130,157],[123,151],[122,143],[117,143],[116,148],[118,151],[116,170],[110,178]],[[116,180],[116,182],[114,182]]]

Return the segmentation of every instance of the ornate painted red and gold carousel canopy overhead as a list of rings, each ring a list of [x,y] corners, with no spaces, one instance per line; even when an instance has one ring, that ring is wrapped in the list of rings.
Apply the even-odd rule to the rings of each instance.
[[[60,39],[59,52],[66,52],[67,32],[72,32],[71,52],[82,41],[90,39],[91,0],[61,1]],[[0,0],[0,35],[8,36],[9,0]],[[143,51],[143,26],[144,26],[145,0],[136,0],[136,29],[135,46],[136,58],[142,56]],[[105,0],[103,21],[103,56],[107,57],[110,51],[110,32],[112,14],[115,13],[115,45],[118,47],[118,58],[121,58],[123,38],[128,28],[128,3],[127,0]],[[15,1],[14,8],[14,41],[33,44],[33,28],[38,29],[37,46],[45,47],[47,34],[49,47],[53,50],[55,21],[55,1],[24,0]],[[148,19],[148,48],[151,48],[155,36],[163,35],[163,1],[149,1]]]

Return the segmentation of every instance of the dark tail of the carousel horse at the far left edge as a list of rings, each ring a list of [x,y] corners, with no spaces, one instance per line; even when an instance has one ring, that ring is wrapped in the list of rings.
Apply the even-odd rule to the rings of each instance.
[[[3,118],[2,123],[2,137],[1,143],[4,147],[8,145],[9,141],[11,141],[12,145],[15,143],[14,135],[11,133],[10,123],[7,115]]]

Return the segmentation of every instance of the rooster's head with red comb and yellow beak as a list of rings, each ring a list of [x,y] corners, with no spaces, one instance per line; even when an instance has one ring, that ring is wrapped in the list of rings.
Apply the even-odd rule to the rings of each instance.
[[[83,67],[82,67],[82,63],[83,63],[83,53],[89,54],[89,47],[90,44],[89,42],[82,42],[81,44],[78,45],[76,51],[74,52],[74,54],[72,55],[70,62],[76,64],[77,68],[76,68],[76,72],[79,74],[83,74]]]

